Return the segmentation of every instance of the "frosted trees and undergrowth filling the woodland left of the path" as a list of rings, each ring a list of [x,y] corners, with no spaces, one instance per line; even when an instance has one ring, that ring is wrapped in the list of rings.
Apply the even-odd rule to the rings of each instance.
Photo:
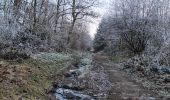
[[[1,0],[0,51],[30,55],[90,50],[87,25],[97,17],[92,9],[95,5],[95,0]]]

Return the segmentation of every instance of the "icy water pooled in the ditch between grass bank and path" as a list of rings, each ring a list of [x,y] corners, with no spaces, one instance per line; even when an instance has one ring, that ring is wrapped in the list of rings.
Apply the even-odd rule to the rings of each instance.
[[[65,79],[67,80],[76,80],[78,77],[84,76],[84,74],[87,73],[87,70],[89,66],[87,65],[75,65],[76,69],[71,69],[66,73]],[[95,100],[92,96],[85,94],[83,92],[84,89],[77,87],[71,87],[69,84],[66,85],[59,85],[60,87],[57,87],[55,90],[55,96],[57,100]]]

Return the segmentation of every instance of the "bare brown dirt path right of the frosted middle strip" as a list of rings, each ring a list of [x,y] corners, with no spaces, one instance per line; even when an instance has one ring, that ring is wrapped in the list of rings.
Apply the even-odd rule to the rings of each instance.
[[[145,89],[140,83],[133,81],[119,69],[119,66],[111,62],[107,56],[96,54],[94,61],[97,65],[103,66],[109,77],[112,89],[108,93],[107,100],[155,100],[155,95]]]

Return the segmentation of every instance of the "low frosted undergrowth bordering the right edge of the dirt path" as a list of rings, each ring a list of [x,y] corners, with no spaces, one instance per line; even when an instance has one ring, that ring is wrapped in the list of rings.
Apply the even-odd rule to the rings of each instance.
[[[134,80],[143,84],[144,87],[159,94],[159,96],[169,96],[169,67],[152,63],[148,56],[135,56],[121,64]]]

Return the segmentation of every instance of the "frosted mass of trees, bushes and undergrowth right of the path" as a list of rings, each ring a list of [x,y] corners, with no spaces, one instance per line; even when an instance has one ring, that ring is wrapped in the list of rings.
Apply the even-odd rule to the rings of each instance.
[[[164,84],[170,72],[169,11],[169,0],[112,2],[110,12],[104,16],[98,28],[94,41],[95,51],[104,50],[113,55],[132,57],[123,64],[128,73],[139,72],[137,76],[140,76],[140,80],[144,77],[145,81]],[[163,76],[154,80],[155,74]],[[166,84],[159,84],[154,89],[161,90],[165,87],[168,88]],[[166,94],[169,92],[168,88]]]

